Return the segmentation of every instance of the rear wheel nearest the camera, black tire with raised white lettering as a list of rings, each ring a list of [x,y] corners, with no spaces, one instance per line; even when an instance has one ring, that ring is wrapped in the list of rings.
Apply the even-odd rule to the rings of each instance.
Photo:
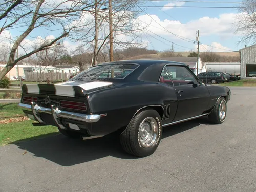
[[[144,120],[146,122],[144,122]],[[147,133],[145,130],[152,130],[150,123],[147,121],[154,122],[155,124],[155,132],[153,133],[155,136],[155,140],[150,142],[150,145],[143,144],[141,138],[144,136],[143,133]],[[143,123],[144,122],[144,123]],[[148,126],[148,127],[147,127]],[[144,132],[143,132],[144,130]],[[149,131],[150,132],[150,131]],[[147,134],[147,136],[151,136],[151,134]],[[120,142],[124,149],[129,154],[138,157],[146,157],[153,154],[162,138],[162,122],[160,115],[155,110],[144,110],[139,112],[134,118],[131,120],[130,124],[126,127],[126,129],[120,135]],[[151,141],[150,139],[148,141]]]

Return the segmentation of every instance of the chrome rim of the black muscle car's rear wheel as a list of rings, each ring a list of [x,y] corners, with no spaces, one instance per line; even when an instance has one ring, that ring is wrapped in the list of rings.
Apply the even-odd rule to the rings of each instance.
[[[145,148],[151,147],[158,133],[157,121],[153,117],[145,118],[139,126],[138,139]]]

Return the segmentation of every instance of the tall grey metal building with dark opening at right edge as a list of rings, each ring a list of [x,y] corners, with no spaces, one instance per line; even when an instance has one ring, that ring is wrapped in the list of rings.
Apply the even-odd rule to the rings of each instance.
[[[239,50],[241,79],[256,79],[256,44]]]

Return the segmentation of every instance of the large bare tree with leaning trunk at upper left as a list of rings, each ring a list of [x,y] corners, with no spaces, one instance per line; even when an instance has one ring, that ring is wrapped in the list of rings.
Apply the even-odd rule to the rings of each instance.
[[[75,28],[85,12],[90,12],[92,1],[84,0],[5,0],[0,3],[0,22],[2,28],[0,34],[5,30],[22,28],[24,31],[16,39],[10,38],[12,48],[8,57],[6,67],[0,72],[2,79],[20,60],[27,58],[39,51],[49,49],[63,37],[67,37]],[[87,25],[87,23],[83,23]],[[31,35],[34,29],[45,29],[56,31],[57,37],[48,39],[36,49],[26,49],[25,38]],[[24,55],[15,58],[18,47],[22,47]]]

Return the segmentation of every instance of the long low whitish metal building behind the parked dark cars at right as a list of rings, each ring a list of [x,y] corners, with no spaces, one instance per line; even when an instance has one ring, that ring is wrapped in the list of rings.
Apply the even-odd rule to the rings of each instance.
[[[240,75],[240,62],[205,62],[207,71],[218,71]]]

